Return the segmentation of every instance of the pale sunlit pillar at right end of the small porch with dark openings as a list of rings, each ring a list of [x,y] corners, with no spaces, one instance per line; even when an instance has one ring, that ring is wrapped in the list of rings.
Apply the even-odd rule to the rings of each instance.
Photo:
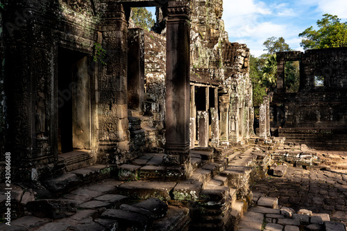
[[[229,94],[219,96],[219,102],[219,111],[221,113],[219,124],[221,145],[229,145]]]

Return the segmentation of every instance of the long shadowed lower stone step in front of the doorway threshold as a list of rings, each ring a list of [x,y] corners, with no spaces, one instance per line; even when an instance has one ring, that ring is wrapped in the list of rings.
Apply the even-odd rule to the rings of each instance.
[[[110,177],[110,165],[92,165],[72,172],[55,176],[44,181],[47,190],[53,194],[62,194],[92,181]]]

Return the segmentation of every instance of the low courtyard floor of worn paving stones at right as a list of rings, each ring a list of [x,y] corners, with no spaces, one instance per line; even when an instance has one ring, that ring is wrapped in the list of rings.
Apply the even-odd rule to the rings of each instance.
[[[256,179],[252,190],[255,200],[260,196],[276,197],[280,206],[326,213],[331,221],[347,224],[347,170],[289,167],[283,177]]]

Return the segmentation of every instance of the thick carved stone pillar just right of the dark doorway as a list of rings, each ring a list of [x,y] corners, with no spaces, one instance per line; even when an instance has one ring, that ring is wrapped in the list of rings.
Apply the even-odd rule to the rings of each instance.
[[[119,163],[119,154],[126,159],[130,133],[128,131],[127,50],[128,23],[121,4],[108,2],[103,19],[103,47],[107,65],[96,88],[96,112],[99,120],[99,153],[109,154],[109,162]]]

